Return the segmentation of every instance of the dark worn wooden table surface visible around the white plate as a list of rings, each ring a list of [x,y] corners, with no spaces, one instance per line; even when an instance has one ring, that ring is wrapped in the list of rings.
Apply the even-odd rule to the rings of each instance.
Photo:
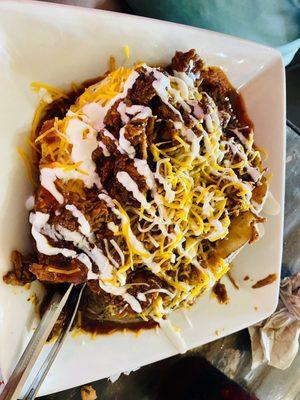
[[[48,0],[49,1],[49,0]],[[114,11],[129,11],[118,0],[53,0],[53,2],[85,5]],[[300,57],[299,57],[300,59]],[[300,64],[300,61],[299,61]],[[300,65],[294,62],[287,71],[288,116],[299,117]],[[300,120],[299,120],[300,123]],[[282,277],[300,271],[300,136],[298,120],[292,121],[294,129],[287,127],[285,223],[282,260]],[[300,124],[298,125],[298,129]],[[251,371],[250,339],[247,330],[193,349],[184,355],[148,365],[130,375],[122,375],[115,383],[107,379],[91,385],[101,400],[152,400],[156,398],[161,376],[172,369],[181,357],[202,355],[228,377],[254,393],[261,400],[300,400],[300,353],[285,371],[262,366]],[[67,373],[67,372],[66,372]],[[80,387],[39,397],[44,400],[79,400]]]

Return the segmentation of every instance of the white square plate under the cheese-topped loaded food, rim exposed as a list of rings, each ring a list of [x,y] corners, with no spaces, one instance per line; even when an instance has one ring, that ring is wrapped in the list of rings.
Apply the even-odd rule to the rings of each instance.
[[[24,202],[31,194],[16,146],[24,140],[37,104],[32,81],[67,87],[106,70],[110,55],[123,59],[129,45],[132,61],[169,62],[176,50],[195,48],[210,65],[222,66],[242,92],[256,130],[256,142],[269,153],[271,190],[281,212],[270,217],[265,235],[245,248],[234,262],[240,290],[227,285],[228,305],[209,294],[187,312],[173,316],[188,348],[247,327],[271,314],[277,304],[278,281],[251,289],[270,273],[280,276],[285,160],[284,69],[273,49],[215,32],[113,12],[38,2],[0,3],[0,276],[9,268],[13,249],[29,242]],[[119,56],[119,57],[118,57]],[[244,281],[249,275],[253,281]],[[227,278],[224,278],[226,281]],[[35,290],[35,289],[32,289]],[[30,292],[0,282],[0,366],[12,372],[32,330]],[[47,346],[46,346],[47,347]],[[169,357],[176,349],[162,332],[116,333],[90,339],[69,337],[40,394],[107,377]]]

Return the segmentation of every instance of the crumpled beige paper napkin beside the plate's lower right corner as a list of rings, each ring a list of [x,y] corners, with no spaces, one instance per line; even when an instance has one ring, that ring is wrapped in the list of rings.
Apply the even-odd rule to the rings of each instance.
[[[250,326],[252,369],[267,364],[286,369],[299,349],[300,273],[280,285],[277,310],[269,318]]]

